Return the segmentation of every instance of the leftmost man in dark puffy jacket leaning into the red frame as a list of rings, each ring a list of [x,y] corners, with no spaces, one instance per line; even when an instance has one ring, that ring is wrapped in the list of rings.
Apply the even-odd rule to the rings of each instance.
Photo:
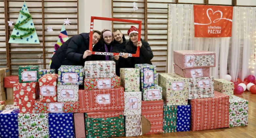
[[[101,33],[97,30],[93,31],[93,45],[100,39]],[[61,65],[77,65],[84,66],[84,62],[92,55],[89,50],[90,33],[81,33],[69,38],[59,47],[52,57],[51,69],[58,69]]]

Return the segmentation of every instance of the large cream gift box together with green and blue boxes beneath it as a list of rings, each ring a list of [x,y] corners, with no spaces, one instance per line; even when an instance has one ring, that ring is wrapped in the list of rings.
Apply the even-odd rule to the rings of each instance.
[[[190,130],[190,105],[188,104],[187,79],[175,73],[159,74],[163,89],[164,133]]]

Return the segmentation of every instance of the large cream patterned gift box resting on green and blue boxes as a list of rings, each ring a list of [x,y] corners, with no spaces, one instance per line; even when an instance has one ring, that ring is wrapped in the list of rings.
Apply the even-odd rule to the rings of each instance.
[[[162,87],[162,99],[167,106],[187,105],[187,79],[176,73],[159,73],[159,86]]]

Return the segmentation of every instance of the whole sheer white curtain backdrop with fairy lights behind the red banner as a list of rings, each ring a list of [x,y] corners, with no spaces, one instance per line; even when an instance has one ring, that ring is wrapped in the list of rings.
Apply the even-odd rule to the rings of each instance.
[[[206,50],[216,53],[216,67],[210,69],[211,76],[225,78],[229,73],[235,80],[238,75],[241,79],[255,75],[256,8],[234,7],[231,38],[195,38],[193,12],[193,5],[168,5],[167,72],[174,72],[174,50]]]

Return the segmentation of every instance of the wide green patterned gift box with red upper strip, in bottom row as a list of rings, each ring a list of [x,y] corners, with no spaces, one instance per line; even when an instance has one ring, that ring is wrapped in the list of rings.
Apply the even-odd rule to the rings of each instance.
[[[86,113],[85,122],[86,137],[124,136],[123,111]]]

